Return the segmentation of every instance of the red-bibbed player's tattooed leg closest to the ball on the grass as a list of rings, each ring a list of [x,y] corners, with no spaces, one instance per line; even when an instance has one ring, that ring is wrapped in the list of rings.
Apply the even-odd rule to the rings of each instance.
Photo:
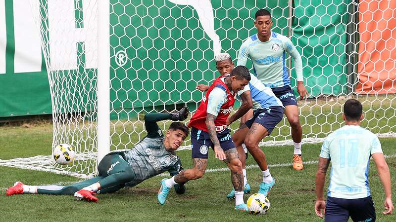
[[[235,191],[244,191],[244,174],[242,173],[242,163],[238,158],[237,148],[225,151],[226,159],[224,162],[231,170],[231,181]]]

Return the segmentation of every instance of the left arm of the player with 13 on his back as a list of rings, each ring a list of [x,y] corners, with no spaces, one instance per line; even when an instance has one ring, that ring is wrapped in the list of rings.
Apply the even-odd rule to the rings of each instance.
[[[319,157],[318,168],[316,171],[315,187],[316,187],[316,203],[315,213],[317,216],[323,218],[325,213],[325,200],[323,198],[323,187],[325,185],[325,177],[327,168],[329,167],[330,159]],[[323,214],[322,214],[323,209]]]

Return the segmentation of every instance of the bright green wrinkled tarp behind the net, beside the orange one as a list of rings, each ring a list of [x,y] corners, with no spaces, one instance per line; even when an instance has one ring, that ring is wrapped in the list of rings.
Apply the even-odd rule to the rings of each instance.
[[[347,13],[350,0],[295,0],[294,3],[292,41],[302,57],[309,94],[313,97],[346,94],[346,24],[350,19]],[[292,76],[296,77],[296,73],[292,72]],[[294,79],[292,87],[296,85]]]

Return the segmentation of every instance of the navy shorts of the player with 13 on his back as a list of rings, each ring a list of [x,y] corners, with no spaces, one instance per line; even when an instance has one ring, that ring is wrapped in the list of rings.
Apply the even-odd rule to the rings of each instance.
[[[359,199],[327,197],[325,222],[375,222],[375,209],[371,196]]]

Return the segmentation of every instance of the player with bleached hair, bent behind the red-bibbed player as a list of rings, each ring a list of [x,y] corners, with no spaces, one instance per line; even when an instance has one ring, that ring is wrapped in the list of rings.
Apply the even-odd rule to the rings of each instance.
[[[223,76],[231,73],[234,69],[234,63],[228,53],[220,53],[216,56],[216,68]],[[206,91],[208,86],[199,84],[197,88]],[[242,145],[246,143],[249,152],[258,163],[263,180],[260,184],[259,191],[265,195],[275,184],[275,180],[269,173],[267,161],[264,152],[258,147],[258,143],[268,136],[283,117],[284,107],[282,102],[274,95],[271,88],[265,86],[256,76],[250,74],[249,84],[243,90],[238,92],[242,99],[242,105],[238,111],[227,119],[227,125],[230,125],[242,116],[250,108],[253,109],[253,116],[247,121],[241,120],[240,128],[233,134],[232,139],[238,149],[238,155],[242,162],[244,174],[244,192],[250,192],[250,185],[247,183],[246,175],[246,154]],[[227,195],[227,198],[235,198],[234,189]]]

